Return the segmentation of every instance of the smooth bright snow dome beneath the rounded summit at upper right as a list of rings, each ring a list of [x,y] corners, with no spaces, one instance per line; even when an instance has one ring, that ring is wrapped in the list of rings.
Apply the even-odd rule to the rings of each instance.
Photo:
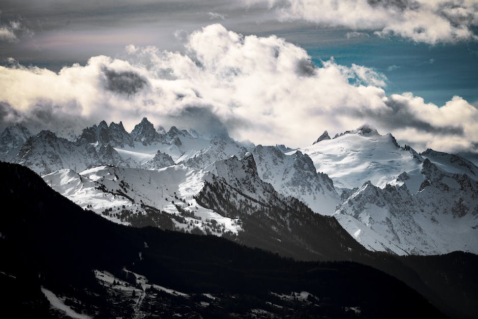
[[[368,126],[322,139],[299,151],[308,154],[316,170],[326,173],[336,187],[349,189],[367,181],[384,187],[422,162],[411,148],[401,148],[392,134],[380,135]]]

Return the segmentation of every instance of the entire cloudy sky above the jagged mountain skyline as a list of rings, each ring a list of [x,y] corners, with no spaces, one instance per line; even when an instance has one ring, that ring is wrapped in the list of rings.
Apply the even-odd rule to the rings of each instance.
[[[478,152],[476,0],[4,0],[0,128],[100,120]],[[471,156],[470,155],[470,156]]]

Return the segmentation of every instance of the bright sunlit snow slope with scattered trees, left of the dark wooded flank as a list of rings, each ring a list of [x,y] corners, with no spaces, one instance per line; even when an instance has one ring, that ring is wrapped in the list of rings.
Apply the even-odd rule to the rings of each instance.
[[[241,229],[240,221],[197,204],[194,196],[211,173],[174,165],[158,170],[98,166],[76,173],[63,169],[43,176],[54,190],[83,208],[117,223],[134,217],[155,218],[163,212],[176,230],[221,236]],[[148,216],[151,215],[151,216]],[[214,220],[214,221],[213,221]]]

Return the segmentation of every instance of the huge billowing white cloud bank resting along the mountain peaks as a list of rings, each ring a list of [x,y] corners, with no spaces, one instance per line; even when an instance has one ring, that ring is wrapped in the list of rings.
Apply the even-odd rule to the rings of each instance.
[[[407,93],[387,97],[386,78],[364,66],[315,66],[275,36],[242,36],[220,24],[189,37],[185,53],[126,48],[54,73],[0,67],[0,124],[74,126],[146,116],[156,125],[222,132],[255,143],[306,146],[323,130],[369,123],[420,149],[475,152],[478,110],[460,97],[444,106]],[[56,130],[56,129],[55,129]]]

